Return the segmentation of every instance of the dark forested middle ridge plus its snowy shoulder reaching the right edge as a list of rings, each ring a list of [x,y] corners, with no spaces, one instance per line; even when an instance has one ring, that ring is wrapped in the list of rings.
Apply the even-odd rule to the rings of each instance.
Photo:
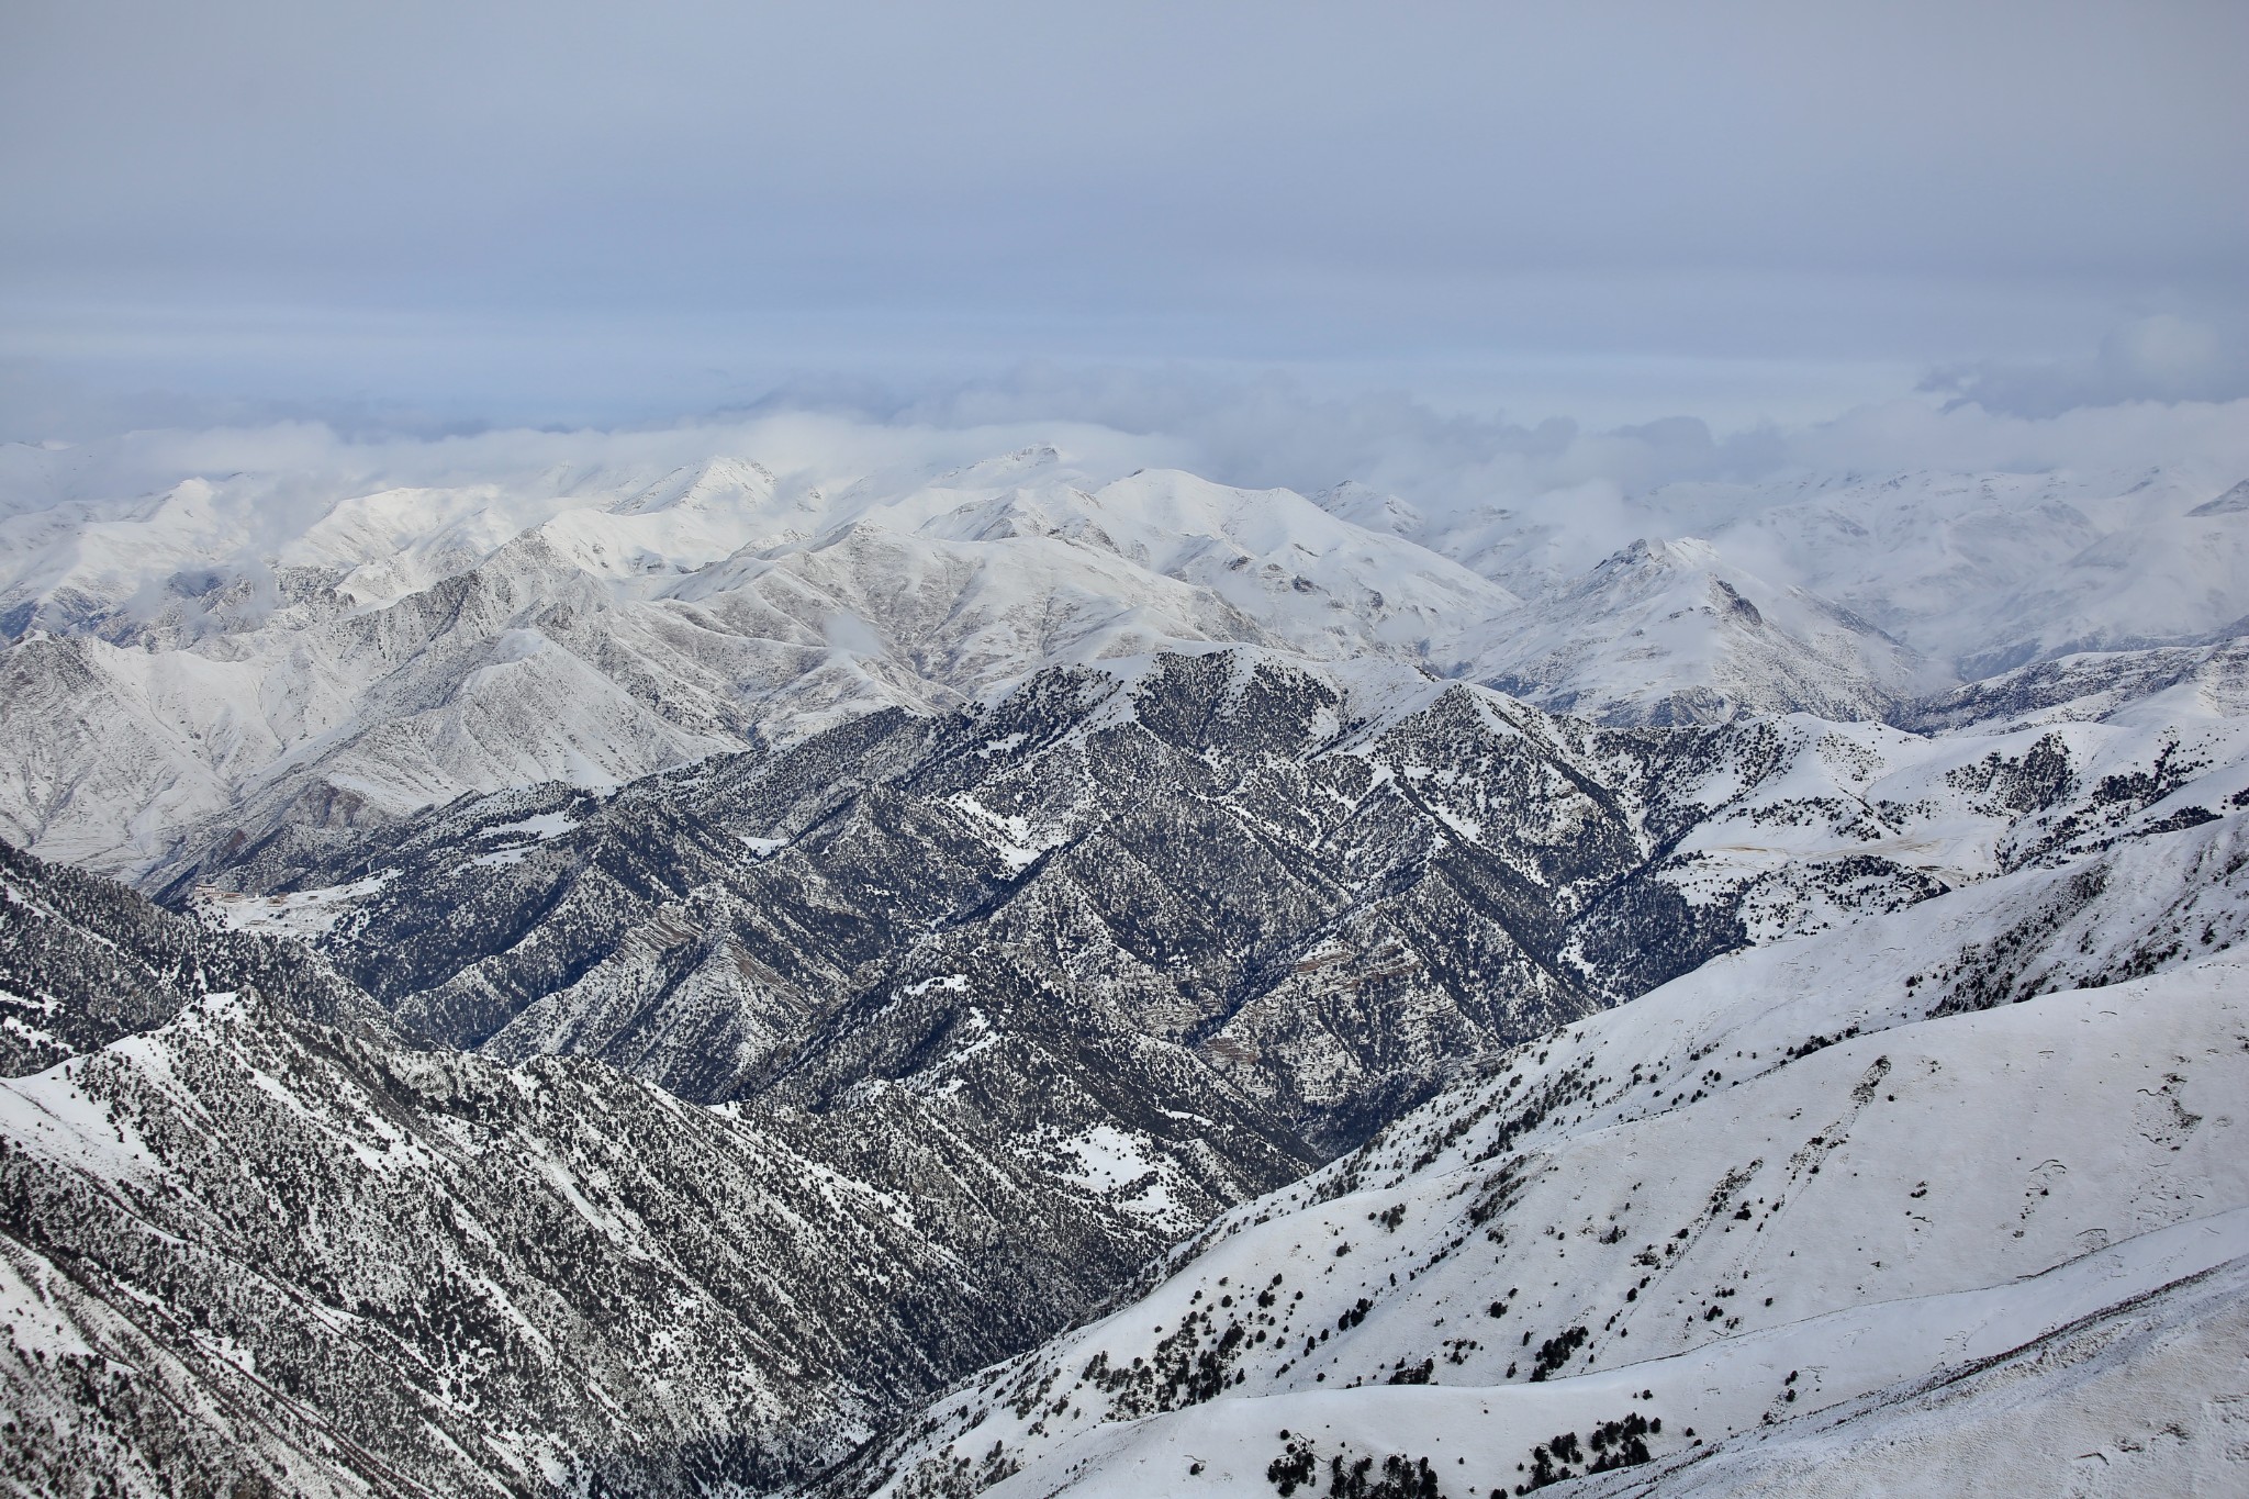
[[[747,1085],[839,1002],[945,980],[915,998],[951,1011],[1032,964],[1035,989],[1302,1110],[1399,1063],[1430,1076],[1370,1036],[1437,1027],[1457,1052],[1538,1005],[2218,816],[2249,784],[2240,703],[2150,670],[2130,681],[2159,694],[2105,721],[1925,739],[1604,733],[1406,672],[1165,654],[612,796],[227,838],[173,890],[299,921],[436,1038],[594,1052],[688,1097]]]

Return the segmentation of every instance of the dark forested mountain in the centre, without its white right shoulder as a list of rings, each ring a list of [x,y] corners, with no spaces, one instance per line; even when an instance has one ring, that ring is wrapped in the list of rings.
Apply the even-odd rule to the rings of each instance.
[[[326,951],[425,1034],[585,1050],[690,1097],[783,1085],[776,1068],[825,1097],[983,1056],[1001,1027],[1046,1054],[1140,1054],[1055,1063],[1104,1092],[1129,1092],[1120,1065],[1199,1076],[1201,1103],[1172,1108],[1203,1121],[1246,1090],[1282,1137],[1363,1130],[1457,1041],[1579,1014],[1545,885],[1642,858],[1597,778],[1552,769],[1577,757],[1556,726],[1491,703],[1412,674],[1354,690],[1271,656],[1174,654],[614,798],[448,809],[396,843],[317,850],[313,870],[299,845],[247,845],[193,879],[333,910]],[[1338,751],[1365,715],[1388,715],[1361,724],[1379,744]],[[1446,764],[1475,782],[1403,791]],[[1430,809],[1493,796],[1527,807],[1482,814],[1473,838]],[[315,894],[331,872],[360,894]],[[1273,1027],[1244,1016],[1275,987],[1309,1020],[1282,1068],[1257,1065],[1250,1027]]]

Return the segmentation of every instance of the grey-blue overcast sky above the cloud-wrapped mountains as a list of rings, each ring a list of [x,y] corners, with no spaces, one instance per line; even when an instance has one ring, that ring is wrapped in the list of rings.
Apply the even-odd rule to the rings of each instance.
[[[2242,0],[9,0],[0,436],[1100,369],[2233,398],[2245,61]]]

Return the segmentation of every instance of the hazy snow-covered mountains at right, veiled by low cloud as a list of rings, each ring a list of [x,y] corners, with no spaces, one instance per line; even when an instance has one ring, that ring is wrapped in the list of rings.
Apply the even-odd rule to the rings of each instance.
[[[1581,485],[1466,510],[1415,508],[1363,485],[1338,485],[1320,501],[1505,582],[1534,600],[1541,620],[1599,569],[1613,569],[1619,548],[1631,544],[1626,557],[1637,560],[1700,537],[1687,569],[1725,580],[1781,629],[1833,636],[1842,625],[1903,645],[1916,661],[1912,692],[1930,690],[1932,672],[1972,681],[2051,654],[2231,632],[2249,616],[2249,569],[2240,566],[2249,510],[2236,481],[2186,463],[2137,472],[1799,472],[1756,483],[1678,481],[1637,494]],[[1786,598],[1806,598],[1799,609],[1813,618],[1790,616]],[[1723,609],[1705,614],[1725,620]],[[1702,649],[1723,654],[1718,641]],[[1869,649],[1880,663],[1882,652]],[[1628,676],[1595,683],[1646,692]]]

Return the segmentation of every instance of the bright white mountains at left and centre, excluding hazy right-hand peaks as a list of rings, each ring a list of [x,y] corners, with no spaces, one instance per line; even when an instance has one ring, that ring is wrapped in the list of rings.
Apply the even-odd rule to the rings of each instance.
[[[1050,449],[902,490],[744,463],[385,490],[243,560],[263,490],[18,517],[0,829],[135,872],[198,823],[367,823],[614,787],[1044,665],[1246,641],[1457,670],[1516,600],[1286,492],[1102,488]],[[225,503],[223,503],[225,501]]]

